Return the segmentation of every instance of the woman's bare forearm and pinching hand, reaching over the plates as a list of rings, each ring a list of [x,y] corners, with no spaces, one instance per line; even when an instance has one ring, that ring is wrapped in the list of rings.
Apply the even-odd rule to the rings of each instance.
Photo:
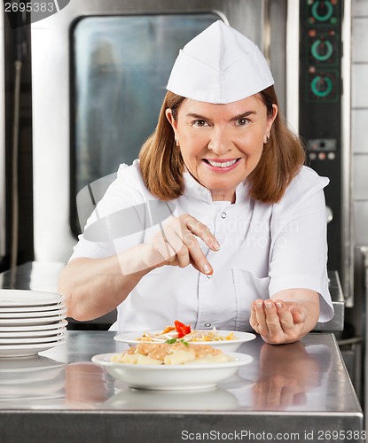
[[[207,226],[183,214],[163,223],[147,243],[109,257],[69,261],[59,276],[58,287],[67,298],[68,315],[81,321],[105,315],[129,296],[143,276],[164,265],[192,265],[211,275],[213,268],[200,249],[200,239],[212,251],[219,250]]]

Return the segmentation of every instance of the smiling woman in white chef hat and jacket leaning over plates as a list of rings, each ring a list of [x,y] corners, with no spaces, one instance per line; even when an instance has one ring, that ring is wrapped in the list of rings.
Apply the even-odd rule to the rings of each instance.
[[[157,128],[98,203],[59,278],[68,315],[112,330],[255,330],[333,317],[327,178],[304,167],[254,43],[217,21],[184,46]],[[137,116],[138,117],[138,116]]]

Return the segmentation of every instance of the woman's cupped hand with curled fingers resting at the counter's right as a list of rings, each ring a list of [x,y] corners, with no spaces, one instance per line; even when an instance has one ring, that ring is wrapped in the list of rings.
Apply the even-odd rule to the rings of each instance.
[[[249,323],[266,343],[293,343],[309,332],[307,315],[307,308],[294,301],[256,299]]]

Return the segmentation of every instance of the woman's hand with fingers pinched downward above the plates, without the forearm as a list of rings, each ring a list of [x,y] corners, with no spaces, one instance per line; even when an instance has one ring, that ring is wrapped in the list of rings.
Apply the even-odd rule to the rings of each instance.
[[[212,251],[220,249],[218,241],[207,226],[192,215],[171,217],[144,245],[142,259],[147,268],[159,268],[163,265],[185,268],[192,265],[203,274],[211,275],[213,268],[200,249],[198,238]]]

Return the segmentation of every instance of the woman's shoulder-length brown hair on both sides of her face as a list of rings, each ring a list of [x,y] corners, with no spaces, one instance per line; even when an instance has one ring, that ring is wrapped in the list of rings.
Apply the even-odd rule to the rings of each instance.
[[[272,105],[278,105],[274,87],[262,90],[257,96],[267,106],[267,113],[271,117]],[[176,147],[174,131],[165,114],[169,108],[176,119],[177,110],[184,99],[167,92],[157,127],[139,153],[147,189],[163,200],[173,200],[184,192],[184,160]],[[304,161],[305,151],[300,138],[287,128],[284,117],[278,113],[270,130],[270,141],[264,145],[262,158],[247,177],[250,197],[263,203],[277,203]]]

